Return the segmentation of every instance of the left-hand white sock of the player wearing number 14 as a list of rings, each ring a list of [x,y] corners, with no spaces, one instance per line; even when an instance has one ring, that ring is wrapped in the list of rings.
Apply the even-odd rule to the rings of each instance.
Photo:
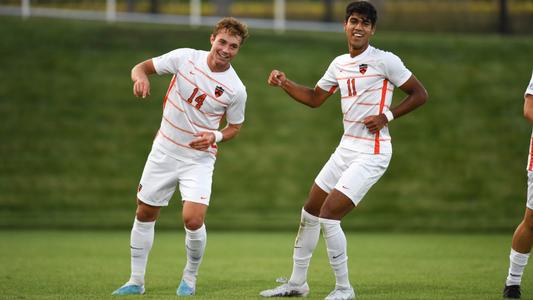
[[[154,243],[153,222],[141,222],[135,218],[131,229],[131,277],[126,284],[144,285],[148,254]]]

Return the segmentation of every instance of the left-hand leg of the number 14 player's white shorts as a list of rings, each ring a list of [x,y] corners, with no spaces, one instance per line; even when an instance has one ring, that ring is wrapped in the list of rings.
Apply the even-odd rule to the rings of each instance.
[[[151,206],[167,206],[176,191],[179,161],[152,149],[137,190],[137,199]]]

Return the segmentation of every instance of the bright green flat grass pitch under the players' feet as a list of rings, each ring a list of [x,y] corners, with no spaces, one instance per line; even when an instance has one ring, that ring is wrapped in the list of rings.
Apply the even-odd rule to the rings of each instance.
[[[347,235],[358,299],[500,299],[508,235]],[[106,299],[129,276],[127,231],[0,231],[0,299]],[[195,299],[259,299],[290,276],[291,233],[208,232]],[[183,233],[156,232],[142,299],[175,299],[184,266]],[[532,268],[523,278],[533,297]],[[309,270],[323,299],[334,277],[321,239]],[[121,297],[120,299],[140,299]]]

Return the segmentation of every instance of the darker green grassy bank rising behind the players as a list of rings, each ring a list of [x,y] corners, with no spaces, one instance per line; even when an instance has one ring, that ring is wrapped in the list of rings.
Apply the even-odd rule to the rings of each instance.
[[[170,77],[132,96],[137,62],[209,49],[207,29],[0,17],[0,227],[129,228]],[[341,33],[252,30],[234,61],[247,86],[240,136],[221,146],[210,228],[287,230],[342,134],[338,95],[316,110],[266,85],[273,68],[313,86]],[[387,173],[352,230],[511,232],[524,211],[531,125],[522,117],[533,39],[378,31],[429,91],[391,125]],[[396,91],[394,103],[402,93]],[[179,224],[178,198],[159,225]],[[231,220],[231,222],[228,222]]]

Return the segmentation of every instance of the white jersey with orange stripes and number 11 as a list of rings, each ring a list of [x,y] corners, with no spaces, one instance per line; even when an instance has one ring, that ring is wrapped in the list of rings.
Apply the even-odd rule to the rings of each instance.
[[[395,86],[410,77],[396,55],[372,46],[356,57],[336,57],[317,86],[330,93],[340,89],[344,134],[339,147],[363,153],[392,153],[387,126],[370,133],[363,120],[389,110]]]

